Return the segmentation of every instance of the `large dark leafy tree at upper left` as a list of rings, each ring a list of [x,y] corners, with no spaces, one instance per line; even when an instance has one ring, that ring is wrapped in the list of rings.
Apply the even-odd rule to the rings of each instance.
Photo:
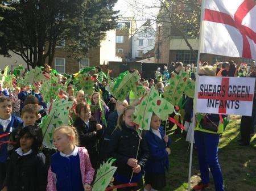
[[[33,68],[51,65],[56,45],[65,40],[67,56],[84,57],[115,28],[116,2],[0,1],[0,54],[10,56],[11,50]]]

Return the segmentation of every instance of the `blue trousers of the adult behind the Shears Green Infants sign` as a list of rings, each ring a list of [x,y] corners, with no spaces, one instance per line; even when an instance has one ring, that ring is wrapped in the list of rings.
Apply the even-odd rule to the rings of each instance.
[[[203,184],[210,182],[209,168],[212,172],[216,191],[224,191],[220,164],[218,163],[218,142],[220,135],[195,131],[201,180]]]

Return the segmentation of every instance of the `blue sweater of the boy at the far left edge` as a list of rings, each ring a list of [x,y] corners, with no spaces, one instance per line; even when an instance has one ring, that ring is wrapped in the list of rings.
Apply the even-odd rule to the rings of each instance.
[[[7,126],[6,130],[3,131],[3,126],[0,125],[0,135],[5,133],[11,133],[15,128],[18,128],[19,126],[23,126],[23,121],[21,118],[16,116],[11,116],[11,122]],[[0,141],[9,141],[9,136],[0,138]],[[7,151],[8,144],[3,144],[0,147],[0,163],[5,163],[6,159],[8,157],[8,151]]]

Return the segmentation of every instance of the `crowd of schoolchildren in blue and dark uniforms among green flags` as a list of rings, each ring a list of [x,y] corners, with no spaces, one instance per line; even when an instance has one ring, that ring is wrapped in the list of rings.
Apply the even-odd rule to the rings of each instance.
[[[186,70],[190,72],[191,77],[194,70],[190,67]],[[207,66],[205,67],[205,70],[208,70]],[[45,71],[49,72],[48,69],[47,65]],[[177,62],[172,73],[179,74],[181,70],[183,65]],[[255,69],[253,72],[255,73]],[[167,78],[170,78],[167,68],[164,73],[164,83],[167,83]],[[160,79],[159,75],[160,70],[156,78]],[[159,94],[164,91],[164,83],[160,80],[154,85],[153,79],[150,83],[142,81],[146,90],[155,86]],[[118,188],[119,191],[140,188],[144,188],[144,191],[154,191],[162,190],[166,186],[171,139],[166,134],[166,128],[161,125],[159,116],[153,113],[150,130],[138,133],[139,127],[133,122],[134,105],[129,105],[129,99],[115,100],[109,95],[105,85],[103,82],[96,83],[98,91],[86,96],[83,90],[75,94],[75,89],[70,83],[66,92],[61,93],[61,99],[73,101],[69,113],[71,126],[60,126],[54,130],[53,145],[56,150],[49,151],[43,146],[44,135],[39,127],[42,117],[47,114],[47,104],[40,92],[41,83],[34,83],[32,91],[30,86],[23,86],[15,87],[13,92],[5,89],[0,83],[2,191],[89,191],[100,163],[108,158],[116,159],[114,185],[136,183],[133,186]],[[100,92],[105,92],[105,96]],[[188,130],[193,99],[185,97],[184,100],[188,103],[185,104],[187,113],[183,124]],[[134,103],[137,105],[139,102]],[[170,122],[169,127],[172,126],[174,123]],[[203,137],[202,134],[204,133],[196,132],[198,148],[201,146],[199,141]],[[204,136],[216,137],[215,146],[218,145],[218,134]],[[214,153],[217,155],[217,151]],[[218,173],[221,176],[221,172]],[[216,186],[222,186],[222,181],[218,183]],[[204,182],[204,186],[206,184],[208,182]]]

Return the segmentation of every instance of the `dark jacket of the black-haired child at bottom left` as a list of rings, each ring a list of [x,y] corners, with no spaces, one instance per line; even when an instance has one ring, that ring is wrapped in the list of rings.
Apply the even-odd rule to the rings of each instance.
[[[8,191],[45,191],[46,184],[47,169],[40,156],[34,152],[24,156],[13,152],[5,179]]]

